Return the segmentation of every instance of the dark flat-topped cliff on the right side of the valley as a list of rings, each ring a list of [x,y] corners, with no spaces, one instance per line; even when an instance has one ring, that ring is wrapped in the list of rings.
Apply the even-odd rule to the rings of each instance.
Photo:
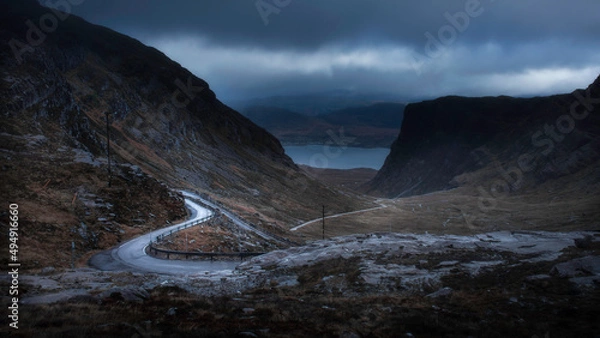
[[[487,187],[499,178],[507,184],[503,188],[517,191],[575,175],[598,165],[598,98],[600,78],[568,95],[410,104],[390,155],[367,189],[410,196],[464,184]]]

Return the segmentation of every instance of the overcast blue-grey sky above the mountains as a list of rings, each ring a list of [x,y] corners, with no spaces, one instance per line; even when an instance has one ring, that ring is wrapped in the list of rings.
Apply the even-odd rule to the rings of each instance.
[[[73,13],[163,51],[225,102],[533,96],[600,74],[598,0],[83,0]]]

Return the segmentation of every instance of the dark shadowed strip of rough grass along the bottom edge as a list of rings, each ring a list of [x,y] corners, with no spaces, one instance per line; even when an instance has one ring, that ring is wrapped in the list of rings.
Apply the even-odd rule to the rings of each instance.
[[[484,277],[480,280],[485,279]],[[465,281],[467,282],[467,281]],[[519,288],[469,282],[448,298],[423,295],[319,295],[304,289],[253,290],[235,298],[202,297],[158,288],[144,303],[89,299],[28,306],[16,336],[418,337],[587,336],[597,332],[598,292],[519,296]],[[509,298],[518,297],[518,302]]]

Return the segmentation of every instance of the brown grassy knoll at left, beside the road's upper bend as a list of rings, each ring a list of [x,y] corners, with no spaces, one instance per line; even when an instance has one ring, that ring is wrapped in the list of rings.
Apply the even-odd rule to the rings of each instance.
[[[45,157],[25,151],[0,156],[10,158],[0,169],[0,192],[6,205],[19,205],[19,259],[25,270],[69,267],[71,243],[75,264],[85,266],[92,253],[187,214],[183,200],[160,182],[114,165],[108,187],[106,166],[73,162],[68,148]],[[0,239],[7,247],[7,237]]]

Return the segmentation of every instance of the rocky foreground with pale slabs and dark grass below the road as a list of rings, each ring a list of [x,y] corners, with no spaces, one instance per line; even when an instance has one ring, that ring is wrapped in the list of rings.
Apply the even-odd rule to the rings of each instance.
[[[21,282],[23,328],[16,336],[600,332],[598,232],[352,235],[273,251],[234,271],[48,270]]]

